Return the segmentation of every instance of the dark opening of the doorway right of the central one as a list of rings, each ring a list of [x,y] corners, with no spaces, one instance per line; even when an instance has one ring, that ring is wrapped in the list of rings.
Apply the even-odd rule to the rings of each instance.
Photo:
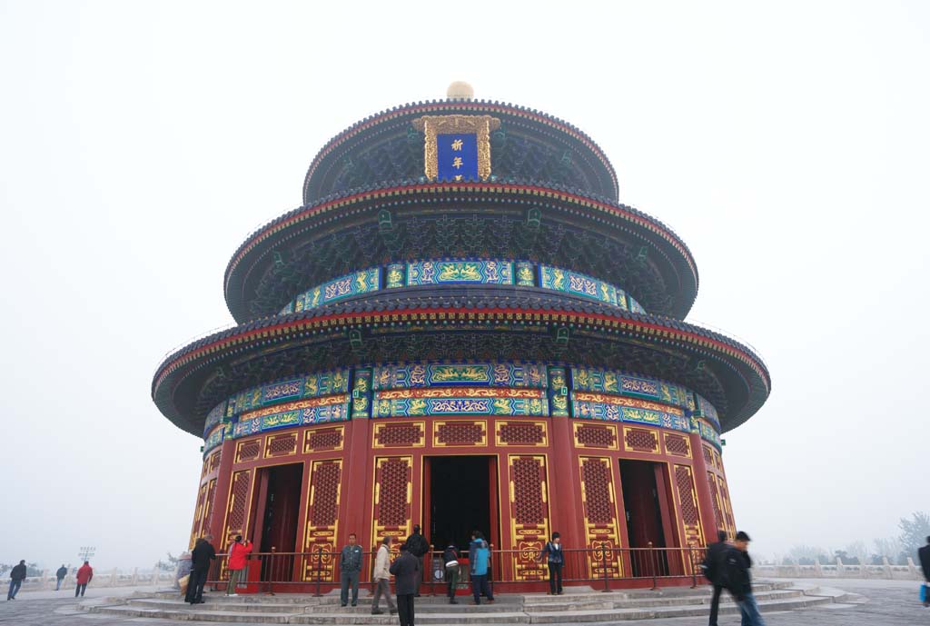
[[[668,509],[665,502],[664,480],[661,465],[644,460],[620,460],[620,484],[623,488],[623,508],[627,518],[627,537],[630,541],[633,576],[652,576],[653,572],[667,569],[664,553],[637,552],[636,548],[666,548],[665,530],[668,520],[663,519]],[[661,483],[661,484],[660,484]]]

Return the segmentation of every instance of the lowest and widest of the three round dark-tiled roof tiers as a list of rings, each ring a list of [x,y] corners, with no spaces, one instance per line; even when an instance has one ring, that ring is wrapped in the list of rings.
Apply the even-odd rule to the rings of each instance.
[[[207,413],[236,393],[338,366],[532,361],[622,370],[692,390],[736,428],[765,402],[771,380],[758,355],[734,340],[670,318],[558,300],[458,294],[384,306],[340,302],[221,331],[158,367],[153,400],[197,435]],[[560,308],[561,307],[561,308]]]

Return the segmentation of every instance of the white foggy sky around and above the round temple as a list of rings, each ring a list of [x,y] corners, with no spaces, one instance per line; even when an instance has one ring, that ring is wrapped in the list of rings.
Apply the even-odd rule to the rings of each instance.
[[[154,367],[231,321],[227,261],[326,140],[458,79],[590,134],[694,253],[688,319],[763,355],[724,435],[757,552],[930,509],[930,5],[449,7],[0,0],[0,562],[185,547],[201,441]]]

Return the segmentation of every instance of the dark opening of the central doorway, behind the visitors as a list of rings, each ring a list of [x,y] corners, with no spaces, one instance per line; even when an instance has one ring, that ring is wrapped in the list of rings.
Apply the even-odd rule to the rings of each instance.
[[[430,458],[430,540],[436,550],[454,542],[468,550],[472,530],[491,539],[490,457]]]

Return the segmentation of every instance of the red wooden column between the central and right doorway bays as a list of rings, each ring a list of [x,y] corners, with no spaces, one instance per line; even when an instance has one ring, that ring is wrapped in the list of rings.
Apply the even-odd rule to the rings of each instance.
[[[559,532],[566,548],[585,548],[587,538],[581,508],[581,473],[574,454],[575,433],[570,418],[552,417],[550,532]]]

